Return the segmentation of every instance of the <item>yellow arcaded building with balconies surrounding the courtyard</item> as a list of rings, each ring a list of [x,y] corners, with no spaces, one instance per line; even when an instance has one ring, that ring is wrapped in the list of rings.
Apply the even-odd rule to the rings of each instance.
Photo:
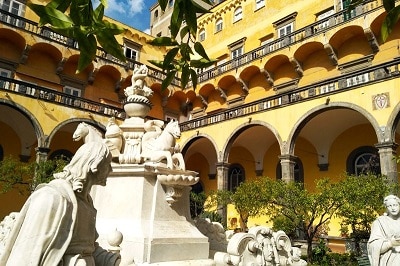
[[[312,190],[316,179],[365,169],[397,182],[400,25],[383,43],[382,0],[351,11],[347,2],[222,1],[198,19],[198,40],[218,63],[199,72],[196,89],[161,91],[163,74],[149,66],[149,116],[180,121],[187,169],[200,176],[196,191],[234,189],[260,176]],[[121,122],[132,69],[165,54],[146,44],[153,37],[125,26],[119,41],[128,63],[98,49],[97,62],[76,75],[74,41],[38,28],[24,3],[4,3],[2,156],[72,154],[80,145],[72,140],[76,126],[104,132],[109,117]],[[0,216],[20,208],[17,196],[0,195]],[[228,226],[235,218],[228,212]]]

